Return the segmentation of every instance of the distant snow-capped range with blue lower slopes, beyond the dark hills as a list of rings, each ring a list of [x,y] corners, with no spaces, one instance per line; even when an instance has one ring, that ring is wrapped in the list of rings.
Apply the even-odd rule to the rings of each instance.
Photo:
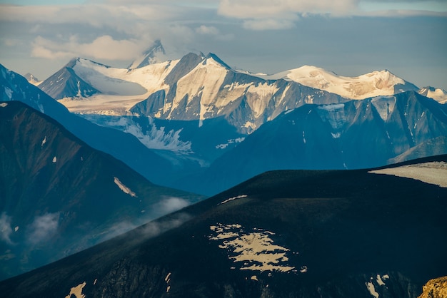
[[[39,88],[169,160],[175,169],[157,182],[206,195],[265,170],[371,168],[447,153],[442,96],[418,94],[440,91],[390,71],[350,78],[302,66],[266,75],[213,53],[154,59],[163,54],[157,42],[132,68],[74,58]]]

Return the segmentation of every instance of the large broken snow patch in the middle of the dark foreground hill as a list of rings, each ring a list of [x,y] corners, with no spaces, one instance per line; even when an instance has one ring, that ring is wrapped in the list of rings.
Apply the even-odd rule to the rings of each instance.
[[[224,240],[219,248],[228,252],[228,258],[241,264],[239,269],[251,271],[289,272],[295,267],[288,266],[286,247],[274,245],[270,238],[273,232],[253,229],[256,232],[243,232],[241,225],[218,224],[210,229],[216,235],[210,240]]]

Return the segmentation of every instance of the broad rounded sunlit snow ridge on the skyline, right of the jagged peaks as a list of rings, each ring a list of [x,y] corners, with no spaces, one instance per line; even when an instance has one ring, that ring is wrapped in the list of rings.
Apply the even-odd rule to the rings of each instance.
[[[275,80],[283,78],[288,81],[301,83],[304,86],[336,93],[351,99],[393,95],[396,93],[396,86],[409,84],[387,70],[373,71],[362,76],[348,77],[338,76],[336,73],[315,66],[302,66],[271,76],[261,75],[259,77]],[[412,84],[409,85],[413,86]],[[411,88],[411,86],[408,86],[408,88]],[[413,90],[416,91],[416,86],[414,87]],[[398,90],[397,92],[402,91]]]

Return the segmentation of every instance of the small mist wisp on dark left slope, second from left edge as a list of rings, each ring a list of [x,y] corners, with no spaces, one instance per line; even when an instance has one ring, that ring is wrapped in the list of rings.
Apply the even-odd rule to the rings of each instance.
[[[59,227],[59,212],[46,213],[34,218],[34,222],[29,226],[28,241],[31,244],[38,244],[44,240],[49,240]]]

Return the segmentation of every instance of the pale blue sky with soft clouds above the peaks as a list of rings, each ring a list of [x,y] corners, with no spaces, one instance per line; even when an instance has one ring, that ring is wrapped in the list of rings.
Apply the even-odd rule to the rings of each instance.
[[[171,59],[211,52],[269,74],[388,69],[447,90],[447,0],[0,0],[0,63],[41,80],[74,57],[129,66],[157,39]]]

